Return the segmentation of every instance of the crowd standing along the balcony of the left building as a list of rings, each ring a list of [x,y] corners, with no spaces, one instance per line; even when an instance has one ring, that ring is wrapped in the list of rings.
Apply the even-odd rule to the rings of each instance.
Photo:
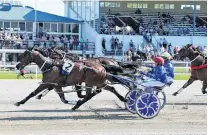
[[[7,31],[0,32],[0,47],[9,47],[12,45],[16,49],[25,49],[29,41],[33,41],[27,33],[15,34]],[[48,34],[37,34],[34,40],[34,45],[46,47],[48,45],[63,45],[69,50],[80,50],[83,47],[83,42],[86,49],[88,49],[88,39],[84,41],[82,38],[79,41],[78,37],[65,35],[48,35]]]

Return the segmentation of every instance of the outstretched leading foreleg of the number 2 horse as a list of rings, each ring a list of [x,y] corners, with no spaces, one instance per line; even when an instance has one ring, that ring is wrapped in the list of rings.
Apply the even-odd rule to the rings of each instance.
[[[33,92],[31,92],[26,98],[24,98],[23,100],[21,100],[20,102],[15,103],[15,106],[20,106],[21,104],[24,104],[25,102],[27,102],[30,98],[36,96],[38,93],[40,93],[41,91],[43,91],[44,89],[48,88],[48,85],[40,85],[38,86],[38,88],[36,90],[34,90]]]

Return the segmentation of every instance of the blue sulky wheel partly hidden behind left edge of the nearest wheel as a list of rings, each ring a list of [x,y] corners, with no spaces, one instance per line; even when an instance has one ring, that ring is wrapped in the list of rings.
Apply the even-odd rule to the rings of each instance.
[[[135,102],[140,95],[141,90],[131,90],[126,94],[125,99],[127,100],[127,102],[125,102],[124,104],[129,112],[136,114]]]

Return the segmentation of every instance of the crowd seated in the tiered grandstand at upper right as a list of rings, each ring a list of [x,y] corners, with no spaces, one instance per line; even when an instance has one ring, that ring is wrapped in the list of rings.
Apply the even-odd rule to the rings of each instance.
[[[141,14],[141,11],[136,11],[135,14]],[[109,13],[107,14],[109,15]],[[158,13],[157,17],[154,19],[147,19],[149,22],[144,22],[146,16],[135,17],[137,20],[136,28],[132,28],[132,26],[126,26],[124,23],[122,28],[118,29],[113,18],[116,16],[103,15],[101,18],[101,34],[125,34],[125,35],[143,35],[143,36],[163,36],[163,35],[172,35],[172,36],[185,36],[190,34],[191,29],[193,28],[193,18],[185,15],[180,20],[176,20],[174,16],[169,13]],[[114,15],[114,14],[113,14]],[[120,15],[120,14],[118,14]],[[133,17],[133,16],[132,16]],[[188,24],[190,26],[187,27],[179,27],[176,30],[173,30],[172,26],[174,24]],[[167,29],[165,29],[165,27]],[[207,32],[206,25],[200,26],[200,24],[196,24],[196,32]]]

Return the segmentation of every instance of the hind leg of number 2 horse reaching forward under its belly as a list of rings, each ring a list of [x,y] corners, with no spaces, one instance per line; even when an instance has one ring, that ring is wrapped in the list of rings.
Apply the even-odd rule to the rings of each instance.
[[[77,104],[72,108],[72,110],[78,109],[82,104],[86,103],[88,100],[90,100],[92,97],[94,97],[95,95],[97,95],[100,92],[101,92],[101,90],[100,91],[94,91],[92,93],[91,88],[86,88],[86,96],[84,97],[84,99],[79,100],[77,102]]]

